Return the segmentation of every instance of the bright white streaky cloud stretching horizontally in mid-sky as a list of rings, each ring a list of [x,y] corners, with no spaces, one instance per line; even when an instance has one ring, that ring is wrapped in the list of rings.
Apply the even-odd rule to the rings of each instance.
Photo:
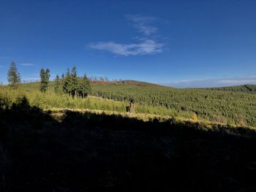
[[[162,43],[155,42],[152,39],[146,39],[143,42],[120,44],[116,42],[97,42],[88,45],[91,49],[106,50],[116,55],[148,55],[154,53],[161,53]]]

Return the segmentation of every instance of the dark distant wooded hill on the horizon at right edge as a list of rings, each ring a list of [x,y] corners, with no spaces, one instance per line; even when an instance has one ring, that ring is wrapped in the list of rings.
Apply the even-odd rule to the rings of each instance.
[[[238,85],[222,88],[206,88],[213,91],[233,91],[233,92],[244,92],[244,93],[256,93],[256,85]]]

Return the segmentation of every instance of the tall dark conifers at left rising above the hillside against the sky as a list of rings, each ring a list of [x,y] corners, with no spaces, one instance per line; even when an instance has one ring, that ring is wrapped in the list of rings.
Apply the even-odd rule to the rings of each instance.
[[[20,79],[20,73],[18,72],[17,66],[15,62],[12,61],[7,73],[7,80],[10,87],[17,89],[18,84],[21,82]],[[49,83],[50,69],[41,69],[39,90],[42,93],[48,92]],[[67,69],[66,74],[62,74],[61,77],[59,77],[59,74],[56,75],[56,79],[54,80],[54,91],[55,93],[67,93],[73,98],[85,98],[91,93],[91,83],[86,77],[86,74],[84,74],[83,77],[78,77],[76,66],[73,66],[71,72]]]

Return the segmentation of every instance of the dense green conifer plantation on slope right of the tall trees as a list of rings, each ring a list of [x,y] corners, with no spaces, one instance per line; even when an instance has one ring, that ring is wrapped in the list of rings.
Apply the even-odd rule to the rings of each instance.
[[[256,96],[248,93],[110,83],[93,85],[92,94],[116,101],[134,99],[137,104],[160,107],[176,113],[195,113],[199,120],[256,125]],[[150,110],[148,112],[151,113]]]

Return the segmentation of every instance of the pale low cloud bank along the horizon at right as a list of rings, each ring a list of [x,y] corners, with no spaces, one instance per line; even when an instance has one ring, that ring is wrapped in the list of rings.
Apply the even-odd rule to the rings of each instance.
[[[177,88],[210,88],[256,84],[256,75],[249,75],[246,77],[222,77],[206,80],[178,80],[172,82],[162,82],[159,84]]]

